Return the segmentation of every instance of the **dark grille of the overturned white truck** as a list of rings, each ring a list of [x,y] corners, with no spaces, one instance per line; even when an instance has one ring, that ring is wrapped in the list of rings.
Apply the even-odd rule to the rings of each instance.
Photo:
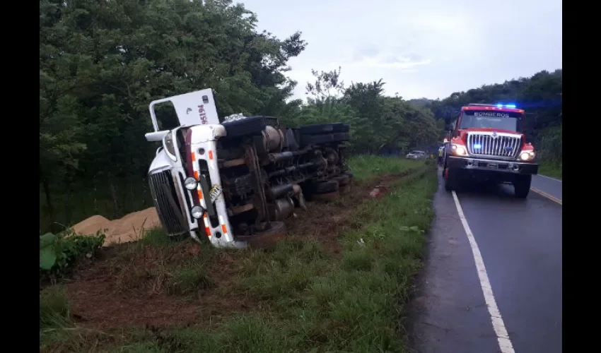
[[[182,224],[182,205],[178,201],[175,193],[175,184],[170,171],[158,172],[148,175],[151,194],[156,207],[156,213],[161,220],[161,224],[169,235],[182,234],[186,232],[187,227]],[[166,186],[166,187],[165,187]],[[172,202],[175,203],[174,208]]]

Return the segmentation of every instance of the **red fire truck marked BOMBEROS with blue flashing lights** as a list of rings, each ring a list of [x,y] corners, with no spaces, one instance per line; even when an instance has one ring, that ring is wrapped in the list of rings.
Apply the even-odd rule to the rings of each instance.
[[[538,164],[522,130],[524,116],[513,104],[468,104],[457,116],[446,116],[445,189],[475,179],[513,184],[515,197],[526,198]]]

